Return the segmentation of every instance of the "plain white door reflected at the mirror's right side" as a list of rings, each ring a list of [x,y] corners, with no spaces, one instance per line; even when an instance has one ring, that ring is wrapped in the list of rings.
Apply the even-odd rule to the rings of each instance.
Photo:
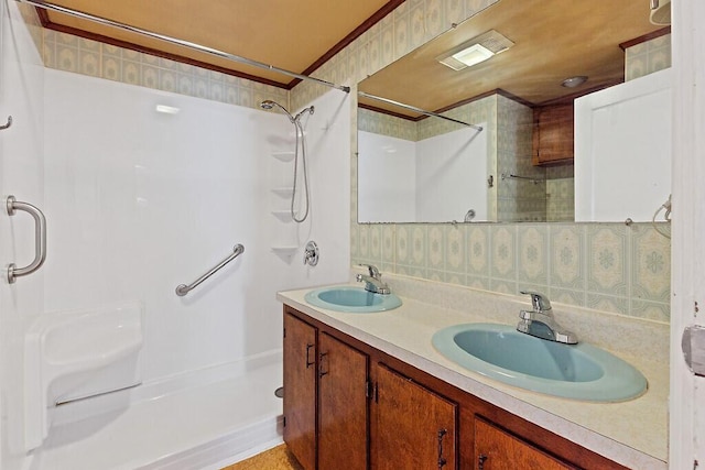
[[[575,221],[651,221],[671,188],[671,69],[575,100]]]

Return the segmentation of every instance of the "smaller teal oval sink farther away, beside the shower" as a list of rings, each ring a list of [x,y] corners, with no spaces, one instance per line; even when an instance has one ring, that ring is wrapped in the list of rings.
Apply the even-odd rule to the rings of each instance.
[[[401,305],[394,294],[375,294],[352,286],[316,288],[306,293],[304,299],[316,307],[358,314],[391,310]]]

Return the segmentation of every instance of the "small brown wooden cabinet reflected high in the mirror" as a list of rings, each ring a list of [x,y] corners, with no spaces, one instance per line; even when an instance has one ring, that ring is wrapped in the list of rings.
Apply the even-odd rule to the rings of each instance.
[[[534,165],[553,165],[573,161],[573,102],[545,106],[533,111]]]

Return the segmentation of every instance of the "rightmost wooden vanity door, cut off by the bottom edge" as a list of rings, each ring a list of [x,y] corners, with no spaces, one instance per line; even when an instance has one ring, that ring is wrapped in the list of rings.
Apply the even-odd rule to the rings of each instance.
[[[475,418],[478,470],[571,470],[571,467],[484,419]]]

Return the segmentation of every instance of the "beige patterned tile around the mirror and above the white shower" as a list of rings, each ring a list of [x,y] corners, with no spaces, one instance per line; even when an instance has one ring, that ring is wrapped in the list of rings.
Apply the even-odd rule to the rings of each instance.
[[[367,75],[491,3],[406,1],[313,75],[350,85],[355,95]],[[290,94],[53,31],[37,42],[47,67],[238,106],[269,98],[299,109],[328,91],[302,83]],[[350,112],[351,263],[496,292],[539,288],[555,300],[668,321],[670,241],[649,225],[358,225],[357,107]]]

